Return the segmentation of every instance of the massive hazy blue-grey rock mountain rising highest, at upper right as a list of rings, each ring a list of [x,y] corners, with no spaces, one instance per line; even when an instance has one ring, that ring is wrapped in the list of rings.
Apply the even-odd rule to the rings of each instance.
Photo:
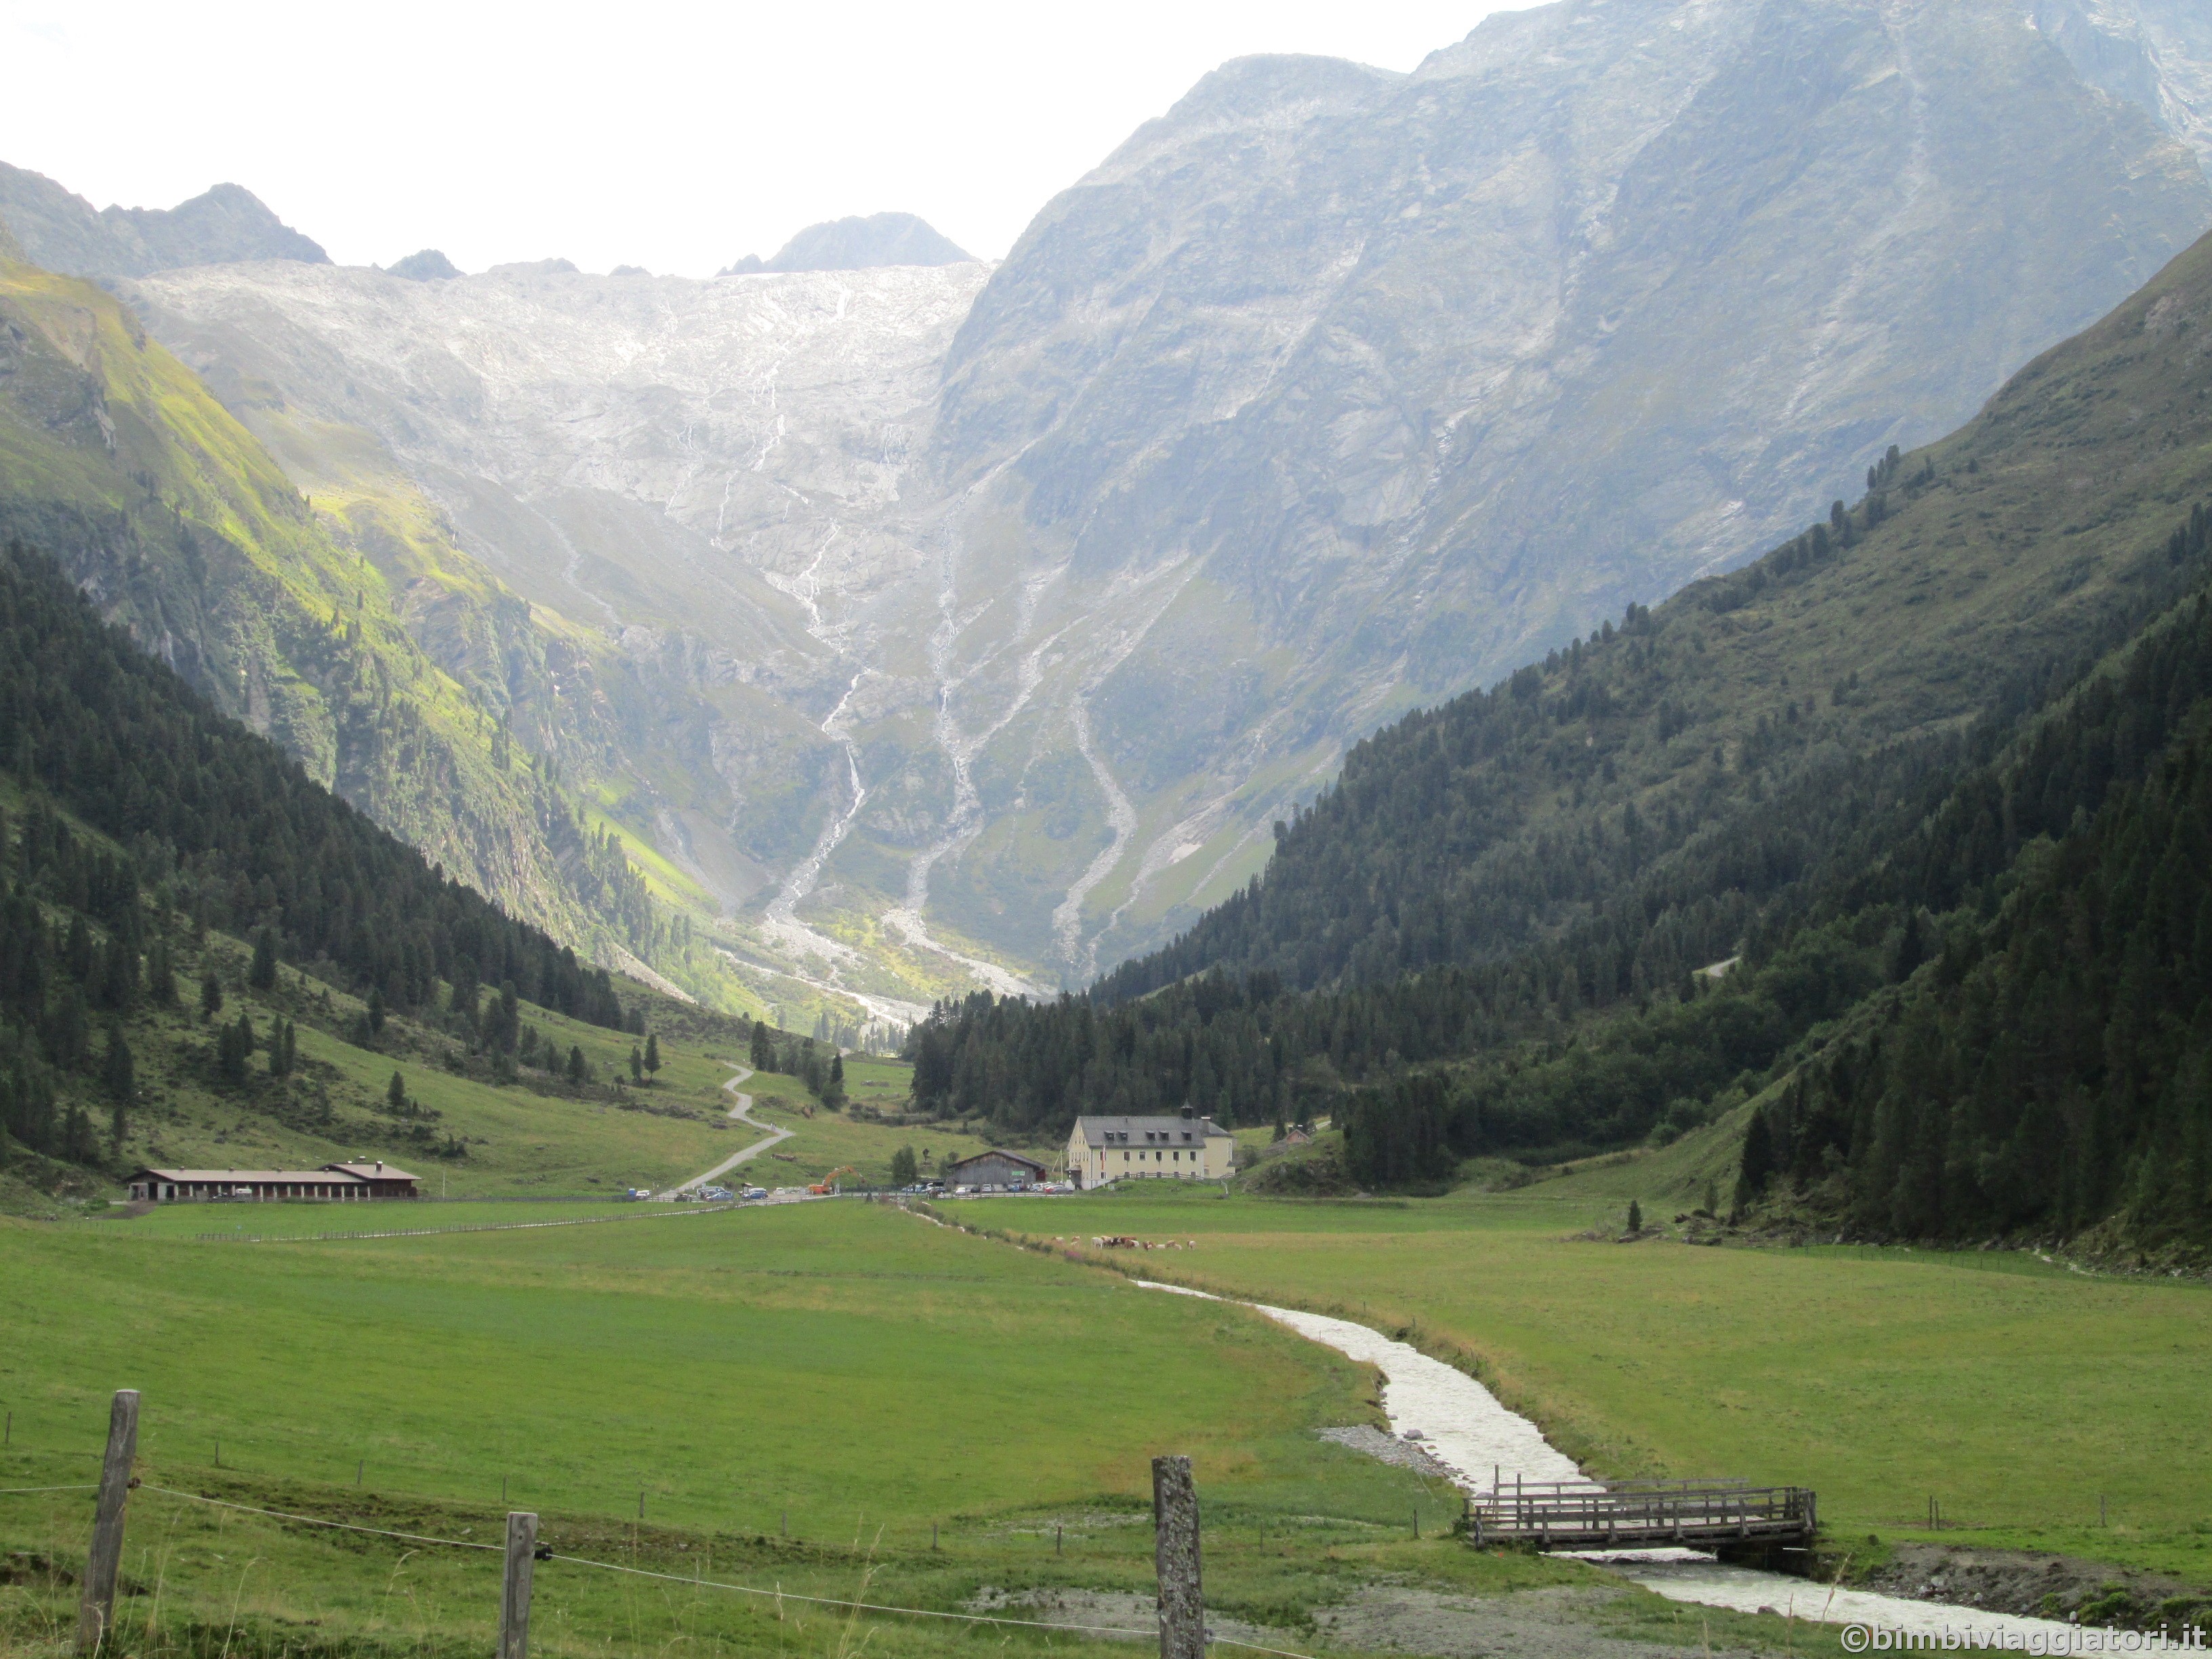
[[[931,465],[1064,595],[1029,637],[1183,573],[1082,692],[1150,872],[1106,953],[1343,743],[1801,529],[2212,223],[2197,13],[2073,13],[2141,24],[2135,95],[2008,0],[1562,0],[1413,75],[1228,64],[1057,197]]]

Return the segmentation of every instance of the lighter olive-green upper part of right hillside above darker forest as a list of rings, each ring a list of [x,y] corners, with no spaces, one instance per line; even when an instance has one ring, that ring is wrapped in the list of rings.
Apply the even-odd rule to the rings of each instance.
[[[1874,469],[1854,509],[1354,748],[1261,878],[1099,995],[1210,967],[1305,989],[1495,960],[1717,823],[1756,825],[1759,863],[1694,891],[1803,867],[1807,827],[1761,810],[1778,785],[2015,710],[2035,675],[2146,615],[2143,555],[2212,489],[2208,325],[2199,243],[1973,425]],[[1644,958],[1646,980],[1739,927],[1697,927],[1692,960]]]

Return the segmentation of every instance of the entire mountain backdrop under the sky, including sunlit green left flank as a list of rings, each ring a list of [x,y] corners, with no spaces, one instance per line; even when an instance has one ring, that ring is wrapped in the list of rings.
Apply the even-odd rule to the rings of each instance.
[[[1858,493],[2208,157],[2181,0],[1559,0],[1225,64],[998,265],[341,268],[11,170],[7,515],[597,960],[898,1026],[1164,945],[1378,726]]]

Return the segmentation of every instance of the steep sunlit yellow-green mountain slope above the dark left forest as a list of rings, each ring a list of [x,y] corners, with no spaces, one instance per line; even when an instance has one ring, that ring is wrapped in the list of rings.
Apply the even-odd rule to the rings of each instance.
[[[22,263],[0,265],[0,533],[515,914],[650,947],[619,849],[416,644],[376,562],[108,294]]]

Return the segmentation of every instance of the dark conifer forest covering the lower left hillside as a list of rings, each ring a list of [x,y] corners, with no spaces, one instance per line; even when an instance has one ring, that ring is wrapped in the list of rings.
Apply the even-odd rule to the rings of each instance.
[[[354,1000],[363,1042],[387,1018],[438,1013],[440,984],[471,1029],[478,984],[493,989],[489,1024],[504,998],[509,1015],[524,1000],[635,1029],[604,969],[332,796],[102,624],[51,560],[11,544],[0,553],[0,1128],[31,1152],[100,1161],[139,1097],[133,1029],[192,1000],[210,1022],[204,1068],[243,1086],[252,1026],[212,1024],[226,933],[239,940],[232,956],[252,942],[248,984],[274,989],[283,962],[321,982],[323,1024],[338,1024],[330,991]],[[504,1033],[509,1055],[518,1035]],[[263,1071],[290,1073],[292,1044],[283,1024],[265,1031]],[[95,1124],[86,1102],[111,1121]]]

